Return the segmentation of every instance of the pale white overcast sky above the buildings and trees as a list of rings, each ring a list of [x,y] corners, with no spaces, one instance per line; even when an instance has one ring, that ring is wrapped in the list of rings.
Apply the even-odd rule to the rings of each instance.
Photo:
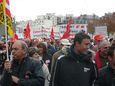
[[[96,14],[115,12],[115,0],[9,0],[11,13],[16,20],[35,19],[38,15]]]

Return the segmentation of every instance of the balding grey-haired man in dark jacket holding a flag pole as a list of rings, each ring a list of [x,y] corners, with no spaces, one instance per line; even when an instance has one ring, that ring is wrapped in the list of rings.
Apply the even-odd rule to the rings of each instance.
[[[24,41],[13,44],[13,61],[5,61],[1,86],[44,86],[42,66],[28,57],[27,49]]]

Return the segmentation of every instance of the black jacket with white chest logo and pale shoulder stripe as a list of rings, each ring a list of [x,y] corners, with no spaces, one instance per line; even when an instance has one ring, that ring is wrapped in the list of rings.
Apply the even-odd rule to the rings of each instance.
[[[92,86],[97,71],[91,53],[77,55],[71,47],[67,56],[58,58],[50,86]]]

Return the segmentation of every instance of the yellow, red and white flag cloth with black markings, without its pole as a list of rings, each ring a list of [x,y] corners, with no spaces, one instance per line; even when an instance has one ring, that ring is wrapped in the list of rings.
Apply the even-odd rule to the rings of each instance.
[[[12,29],[12,17],[10,13],[9,0],[0,0],[0,25],[5,25],[5,18],[7,32],[10,37],[13,37],[14,32]]]

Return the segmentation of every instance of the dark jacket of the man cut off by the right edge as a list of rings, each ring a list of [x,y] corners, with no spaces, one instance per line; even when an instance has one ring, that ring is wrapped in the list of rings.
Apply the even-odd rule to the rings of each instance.
[[[115,86],[115,70],[110,65],[99,71],[99,77],[96,86]]]

